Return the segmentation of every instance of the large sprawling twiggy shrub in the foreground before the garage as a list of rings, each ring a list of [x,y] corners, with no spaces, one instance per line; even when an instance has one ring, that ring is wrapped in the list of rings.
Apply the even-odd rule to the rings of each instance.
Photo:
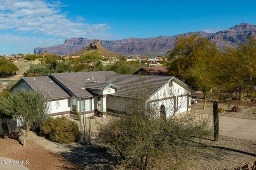
[[[161,117],[132,113],[102,125],[99,137],[116,149],[116,156],[125,169],[154,169],[160,160],[168,162],[170,159],[173,159],[171,166],[174,166],[181,160],[185,161],[183,156],[188,155],[194,137],[202,139],[211,134],[205,120],[194,120],[193,114],[162,120]],[[99,151],[104,150],[99,147]],[[167,164],[161,168],[174,169]]]

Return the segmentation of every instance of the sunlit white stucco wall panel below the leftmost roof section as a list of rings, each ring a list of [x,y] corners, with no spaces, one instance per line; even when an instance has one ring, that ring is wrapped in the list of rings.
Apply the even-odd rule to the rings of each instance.
[[[70,98],[48,101],[49,113],[52,114],[52,113],[70,111],[69,99]]]

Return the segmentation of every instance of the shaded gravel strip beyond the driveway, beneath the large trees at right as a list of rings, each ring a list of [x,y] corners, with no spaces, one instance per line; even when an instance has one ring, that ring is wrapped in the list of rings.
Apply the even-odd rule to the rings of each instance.
[[[241,112],[232,112],[231,108],[233,106],[241,107]],[[228,116],[228,117],[237,117],[237,118],[247,118],[251,120],[256,120],[256,106],[255,103],[247,103],[246,101],[228,101],[226,103],[221,102],[218,103],[218,107],[222,107],[226,109],[226,112],[219,113],[220,116]],[[206,103],[206,107],[203,110],[203,102],[198,101],[195,104],[192,104],[191,111],[195,113],[205,113],[205,114],[213,114],[212,102],[209,101]]]

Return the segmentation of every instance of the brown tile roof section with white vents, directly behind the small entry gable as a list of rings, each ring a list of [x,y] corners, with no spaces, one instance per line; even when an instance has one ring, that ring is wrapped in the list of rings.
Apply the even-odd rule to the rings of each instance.
[[[85,82],[99,81],[105,83],[106,74],[115,74],[114,71],[77,72],[77,73],[55,73],[51,77],[70,90],[78,98],[92,97],[92,94],[82,89]],[[92,79],[93,78],[93,79]]]

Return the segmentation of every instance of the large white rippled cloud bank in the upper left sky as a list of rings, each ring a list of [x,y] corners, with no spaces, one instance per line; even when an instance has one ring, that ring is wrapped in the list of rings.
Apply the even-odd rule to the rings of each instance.
[[[61,12],[60,2],[43,0],[0,0],[0,30],[34,32],[61,38],[107,38],[110,28],[106,23],[84,23],[78,16],[75,21]]]

